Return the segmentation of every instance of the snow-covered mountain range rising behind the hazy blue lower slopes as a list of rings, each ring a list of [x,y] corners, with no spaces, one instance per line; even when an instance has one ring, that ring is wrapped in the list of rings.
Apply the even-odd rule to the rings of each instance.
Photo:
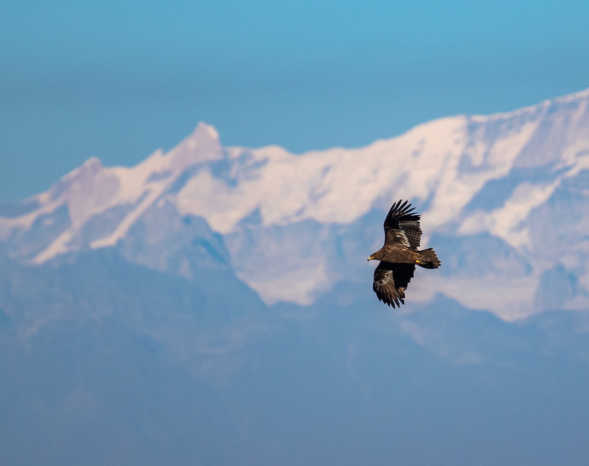
[[[588,103],[589,89],[305,154],[224,147],[201,123],[135,167],[91,158],[4,208],[0,253],[40,265],[116,248],[186,278],[231,269],[267,304],[309,305],[339,282],[371,287],[366,257],[403,198],[443,264],[416,273],[409,303],[442,294],[504,319],[588,309]]]

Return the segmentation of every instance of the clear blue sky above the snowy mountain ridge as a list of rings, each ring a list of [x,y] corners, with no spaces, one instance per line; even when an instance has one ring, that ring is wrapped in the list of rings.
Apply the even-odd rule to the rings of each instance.
[[[198,121],[226,145],[358,147],[589,87],[585,1],[0,5],[0,201]]]

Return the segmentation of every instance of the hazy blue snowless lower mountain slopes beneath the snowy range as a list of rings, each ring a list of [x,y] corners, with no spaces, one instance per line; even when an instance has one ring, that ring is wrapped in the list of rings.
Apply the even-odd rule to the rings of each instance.
[[[1,265],[2,464],[589,457],[587,314],[514,324],[449,299],[400,314],[343,284],[266,308],[108,249]]]

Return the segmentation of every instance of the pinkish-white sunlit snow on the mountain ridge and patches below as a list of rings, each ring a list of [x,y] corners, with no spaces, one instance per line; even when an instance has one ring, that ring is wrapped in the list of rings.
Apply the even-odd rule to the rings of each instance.
[[[567,102],[568,106],[564,105]],[[565,185],[565,179],[589,169],[589,129],[584,126],[588,102],[589,89],[515,112],[436,119],[367,147],[300,155],[278,146],[223,148],[216,129],[200,123],[176,147],[167,153],[158,150],[134,167],[102,167],[100,160],[88,159],[54,187],[35,196],[39,207],[34,211],[15,218],[0,217],[0,239],[9,241],[31,228],[45,228],[47,235],[54,235],[48,237],[48,247],[23,258],[41,264],[80,248],[116,245],[147,209],[164,201],[176,207],[178,215],[203,217],[214,231],[229,237],[239,234],[243,228],[240,222],[256,209],[261,217],[256,231],[294,228],[305,220],[350,225],[371,210],[385,211],[403,198],[415,202],[428,235],[436,231],[448,234],[448,229],[455,237],[488,233],[525,253],[534,247],[532,233],[541,228],[528,221],[531,212]],[[565,122],[569,126],[561,131]],[[552,138],[542,132],[553,127],[558,134]],[[489,210],[470,205],[488,182],[506,177],[514,167],[541,167],[548,162],[556,164],[553,171],[547,165],[542,181],[522,178],[511,194],[498,192],[498,199],[505,199],[499,207]],[[219,167],[224,167],[223,171]],[[188,174],[181,189],[172,191],[178,177]],[[54,212],[64,205],[69,223],[59,229]],[[127,210],[124,218],[102,237],[81,244],[87,222],[117,207]],[[36,222],[40,217],[43,222]],[[260,241],[279,241],[264,238]],[[315,245],[324,241],[310,240]],[[366,241],[372,244],[371,238]],[[260,247],[264,254],[252,251],[250,257],[245,247],[238,259],[236,248],[229,245],[239,277],[266,302],[309,304],[340,279],[322,248],[305,248],[307,254],[313,251],[305,257],[294,244],[289,257],[284,258],[288,267],[281,271],[269,265],[277,260],[272,245],[262,242]],[[573,261],[568,266],[580,264]],[[504,279],[491,274],[446,280],[421,274],[426,278],[420,277],[415,285],[412,282],[412,299],[431,299],[441,291],[471,308],[492,309],[506,319],[521,317],[533,312],[530,303],[548,265],[537,261],[528,276],[508,275]],[[183,271],[177,272],[190,275],[189,262],[182,267]],[[586,277],[584,273],[579,282],[584,289],[588,289]],[[584,302],[575,299],[570,306]]]

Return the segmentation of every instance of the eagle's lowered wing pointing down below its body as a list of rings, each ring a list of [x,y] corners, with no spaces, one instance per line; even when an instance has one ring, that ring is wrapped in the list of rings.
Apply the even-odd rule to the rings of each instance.
[[[405,304],[405,289],[413,278],[415,265],[380,262],[374,271],[372,289],[379,301],[395,307]],[[399,304],[399,301],[401,304]]]

